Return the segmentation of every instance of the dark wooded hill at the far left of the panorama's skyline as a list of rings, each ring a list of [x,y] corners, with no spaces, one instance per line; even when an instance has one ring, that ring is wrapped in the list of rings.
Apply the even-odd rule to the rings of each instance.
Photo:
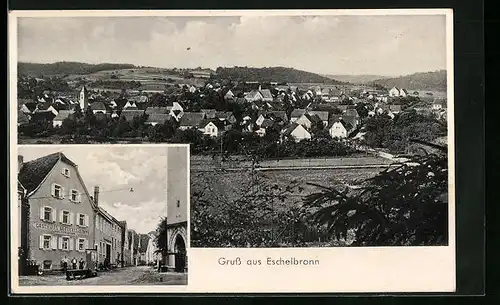
[[[70,61],[61,61],[51,64],[36,64],[27,62],[19,62],[17,64],[17,71],[19,75],[34,76],[34,77],[39,77],[42,75],[50,75],[50,76],[55,76],[55,75],[63,76],[70,74],[83,75],[105,70],[131,69],[131,68],[135,68],[135,66],[131,64],[110,64],[110,63],[94,65],[81,62],[70,62]]]

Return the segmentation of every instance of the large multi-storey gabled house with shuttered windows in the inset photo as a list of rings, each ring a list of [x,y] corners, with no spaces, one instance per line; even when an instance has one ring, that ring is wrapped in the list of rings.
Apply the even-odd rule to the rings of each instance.
[[[57,152],[24,162],[18,157],[18,181],[26,189],[29,228],[24,252],[42,270],[61,270],[64,257],[86,260],[94,242],[94,200],[73,161]]]

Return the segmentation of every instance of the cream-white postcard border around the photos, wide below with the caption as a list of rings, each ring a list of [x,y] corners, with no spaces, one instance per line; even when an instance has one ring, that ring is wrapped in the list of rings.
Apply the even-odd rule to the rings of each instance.
[[[17,145],[17,18],[19,17],[118,17],[118,16],[289,16],[289,15],[445,15],[447,46],[449,245],[445,247],[363,248],[266,248],[189,249],[189,280],[185,286],[33,286],[12,287],[14,293],[300,293],[300,292],[453,292],[455,279],[455,133],[453,83],[453,11],[451,9],[381,10],[137,10],[137,11],[13,11],[9,13],[10,157],[16,159]],[[134,144],[137,145],[137,144]],[[86,145],[87,146],[87,145]],[[15,171],[14,171],[15,172]],[[190,174],[188,174],[188,177]],[[17,189],[11,176],[11,195]],[[188,184],[189,192],[189,184]],[[11,196],[12,203],[17,196]],[[190,200],[188,200],[189,202]],[[17,206],[17,203],[15,203]],[[12,208],[12,206],[11,206]],[[188,209],[189,203],[188,203]],[[11,209],[16,210],[16,209]],[[16,213],[11,223],[17,225]],[[15,227],[15,226],[14,226]],[[190,240],[188,220],[188,240]],[[17,249],[17,234],[11,239]],[[17,273],[17,254],[11,253],[11,270]],[[316,267],[223,267],[221,256],[263,258],[267,256],[319,258]],[[338,276],[337,274],[341,274]],[[383,275],[383,276],[381,276]],[[13,284],[14,277],[11,278]],[[16,289],[14,289],[16,288]]]

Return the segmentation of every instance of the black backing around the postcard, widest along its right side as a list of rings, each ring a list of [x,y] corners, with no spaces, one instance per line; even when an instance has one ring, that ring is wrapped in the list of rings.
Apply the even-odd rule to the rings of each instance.
[[[434,296],[420,298],[420,297],[405,297],[398,299],[397,302],[401,303],[414,303],[422,302],[428,303],[429,301],[435,302],[449,302],[451,304],[470,304],[477,300],[471,298],[437,298],[436,295],[483,295],[486,289],[485,283],[485,56],[484,56],[484,18],[483,18],[483,3],[481,1],[405,1],[404,4],[400,1],[335,1],[335,3],[328,3],[327,1],[309,0],[309,1],[295,1],[290,0],[287,2],[274,2],[270,1],[109,1],[109,0],[10,0],[8,1],[8,10],[59,10],[59,9],[375,9],[375,8],[453,8],[454,9],[454,87],[455,87],[455,176],[456,176],[456,266],[457,266],[457,292],[454,294],[434,294]],[[488,13],[488,11],[486,11]],[[493,14],[492,14],[493,15]],[[494,21],[494,20],[490,20]],[[494,34],[493,34],[494,35]],[[498,34],[495,35],[498,37]],[[491,36],[491,37],[495,37]],[[50,42],[48,42],[50,43]],[[7,54],[7,53],[6,53]],[[499,55],[498,51],[493,49],[492,56],[488,59],[495,61]],[[493,86],[498,86],[495,82]],[[6,103],[7,105],[7,103]],[[8,107],[6,113],[8,113]],[[8,125],[7,125],[8,126]],[[10,135],[12,136],[12,135]],[[496,162],[496,161],[494,161]],[[490,167],[488,163],[488,167]],[[8,193],[8,192],[6,192]],[[9,201],[6,201],[9,202]],[[5,205],[8,209],[8,205]],[[490,206],[491,210],[488,212],[492,216],[494,206]],[[6,215],[9,213],[7,211]],[[6,222],[7,232],[9,228],[8,221]],[[489,231],[490,232],[490,231]],[[495,231],[492,231],[493,234]],[[492,238],[497,238],[493,236]],[[497,235],[497,234],[494,234]],[[7,235],[8,236],[8,235]],[[9,241],[6,249],[7,257],[9,257]],[[492,239],[489,239],[488,249],[492,244]],[[491,268],[496,263],[496,259],[492,259]],[[3,274],[7,282],[10,280],[10,274],[7,269]],[[4,265],[5,266],[5,265]],[[496,266],[495,266],[496,267]],[[498,270],[497,268],[495,268]],[[325,270],[324,272],[331,272]],[[492,271],[494,272],[494,271]],[[489,274],[491,275],[491,274]],[[210,275],[207,274],[207,281],[210,281]],[[342,275],[339,275],[342,276]],[[383,276],[383,275],[381,275]],[[490,279],[493,281],[498,279],[494,274]],[[300,280],[300,274],[297,278],[290,279],[292,281]],[[489,284],[495,287],[493,282],[488,281]],[[7,294],[10,294],[10,285],[5,285]],[[493,290],[489,292],[493,293]],[[189,296],[196,296],[188,294]],[[380,295],[380,294],[379,294]],[[429,295],[429,294],[417,294]],[[98,296],[98,295],[96,295]],[[111,299],[114,302],[121,302],[123,299],[130,303],[144,302],[174,302],[173,299],[159,299],[154,298],[159,295],[148,295],[148,300],[144,300],[144,296],[128,295],[128,296],[115,296]],[[160,295],[163,296],[172,296]],[[181,294],[186,296],[186,294]],[[175,300],[175,302],[184,301],[189,304],[197,302],[214,302],[206,297],[202,299],[189,298],[188,300]],[[246,297],[249,295],[223,295],[234,300],[232,296]],[[252,295],[252,298],[245,298],[238,300],[239,302],[254,302],[259,303],[268,301],[267,298],[260,296],[267,295]],[[287,297],[290,295],[281,295]],[[385,302],[393,303],[396,299],[393,297],[385,298],[372,298],[374,295],[339,295],[339,294],[311,294],[302,295],[307,299],[298,299],[298,301],[311,301],[313,303],[321,300],[330,300],[331,302],[369,302],[370,304]],[[309,299],[310,297],[314,299]],[[53,304],[54,297],[38,299],[37,302]],[[68,297],[68,296],[65,296]],[[297,296],[295,296],[297,297]],[[370,297],[370,298],[368,298]],[[492,295],[490,296],[492,297]],[[100,295],[100,301],[107,301],[108,297]],[[484,300],[484,299],[483,299]],[[9,301],[16,303],[27,304],[28,302],[35,301],[32,297],[26,296],[20,298],[12,296]],[[94,302],[96,300],[90,299],[88,296],[85,298],[72,296],[69,299],[59,299],[57,301],[71,304],[78,304],[81,302]],[[216,300],[217,304],[223,302],[224,299]],[[215,303],[215,302],[214,302]],[[481,302],[482,303],[482,302]],[[495,302],[493,302],[495,303]],[[498,303],[498,302],[497,302]]]

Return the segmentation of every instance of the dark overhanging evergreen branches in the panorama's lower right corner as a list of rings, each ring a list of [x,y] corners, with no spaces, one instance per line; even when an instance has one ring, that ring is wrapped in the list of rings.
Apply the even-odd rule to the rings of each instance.
[[[361,182],[358,190],[316,185],[303,208],[334,239],[355,246],[448,243],[446,153],[413,157]]]

